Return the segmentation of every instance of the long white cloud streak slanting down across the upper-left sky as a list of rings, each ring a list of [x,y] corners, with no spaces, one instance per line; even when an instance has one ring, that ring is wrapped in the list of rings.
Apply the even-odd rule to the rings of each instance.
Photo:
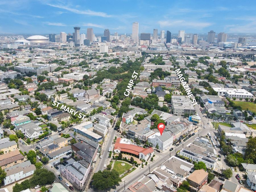
[[[80,11],[78,9],[73,9],[73,8],[70,8],[69,6],[65,6],[65,5],[54,5],[54,4],[50,4],[50,3],[46,3],[46,5],[49,5],[51,7],[57,7],[59,9],[65,9],[67,11],[70,11],[70,12],[73,12],[73,13],[77,13],[77,14],[84,14],[84,15],[91,15],[91,16],[100,16],[100,17],[111,17],[111,15],[108,15],[107,13],[91,11],[89,9],[85,10],[85,11]]]

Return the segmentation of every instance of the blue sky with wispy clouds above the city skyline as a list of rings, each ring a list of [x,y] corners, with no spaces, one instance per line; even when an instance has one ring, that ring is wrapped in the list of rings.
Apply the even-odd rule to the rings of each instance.
[[[256,33],[256,1],[253,0],[1,0],[0,33],[72,33],[80,26],[86,34],[131,34],[132,22],[139,33],[153,29],[186,33]]]

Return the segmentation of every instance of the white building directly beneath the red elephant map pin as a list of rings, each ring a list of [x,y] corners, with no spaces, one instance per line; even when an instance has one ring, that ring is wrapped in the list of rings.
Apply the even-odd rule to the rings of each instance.
[[[157,132],[154,135],[150,135],[148,137],[148,142],[152,143],[153,147],[156,148],[158,144],[159,150],[167,150],[172,146],[173,143],[173,136],[170,135],[168,132],[164,132],[162,135]]]

